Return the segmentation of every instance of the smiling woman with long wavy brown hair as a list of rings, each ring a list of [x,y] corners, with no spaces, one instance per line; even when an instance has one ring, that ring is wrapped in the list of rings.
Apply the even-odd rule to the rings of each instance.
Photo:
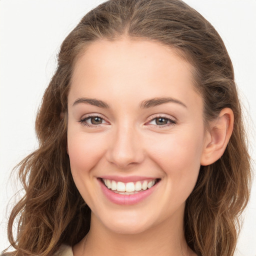
[[[36,130],[9,220],[14,255],[233,255],[250,176],[233,68],[182,1],[111,0],[86,14],[62,43]]]

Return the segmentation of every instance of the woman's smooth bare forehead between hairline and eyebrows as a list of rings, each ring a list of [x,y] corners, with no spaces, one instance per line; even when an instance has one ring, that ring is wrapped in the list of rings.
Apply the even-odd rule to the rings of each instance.
[[[175,96],[198,102],[200,96],[194,90],[192,71],[192,65],[173,48],[158,42],[98,40],[89,44],[77,59],[69,98],[98,96],[108,101],[121,96],[125,101],[129,97],[143,100]]]

